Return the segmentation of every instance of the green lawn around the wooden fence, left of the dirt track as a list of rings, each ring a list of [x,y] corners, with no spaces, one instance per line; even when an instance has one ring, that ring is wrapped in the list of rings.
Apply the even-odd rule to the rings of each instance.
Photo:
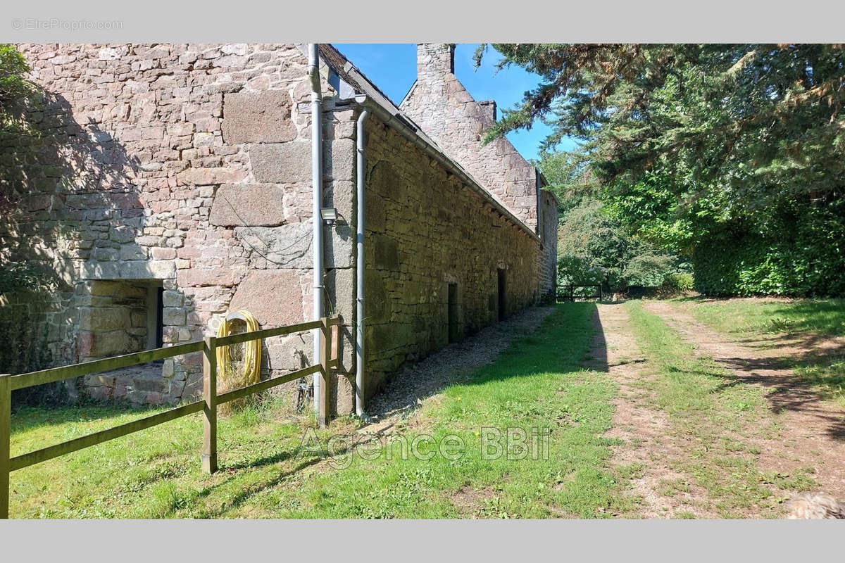
[[[358,423],[330,430],[292,417],[279,399],[221,420],[221,470],[199,471],[199,414],[12,474],[12,517],[610,517],[630,511],[625,476],[607,468],[616,387],[588,371],[594,307],[557,306],[465,384],[423,403],[389,436],[392,447],[350,448]],[[89,405],[21,409],[13,455],[151,411]],[[549,432],[482,458],[496,428]],[[311,429],[311,430],[308,430]],[[341,436],[329,442],[330,436]],[[305,439],[303,440],[303,436]],[[403,459],[401,440],[417,448]],[[447,436],[450,437],[447,440]],[[455,440],[464,442],[456,455]],[[305,442],[303,445],[303,441]],[[444,445],[450,441],[451,447]],[[518,442],[518,441],[517,441]],[[331,448],[327,445],[331,443]],[[346,446],[344,446],[344,444]],[[436,447],[445,449],[433,452]],[[327,457],[331,449],[334,456]],[[493,452],[495,448],[492,448]],[[416,452],[417,455],[413,455]],[[430,459],[428,453],[434,453]],[[510,456],[508,455],[510,453]],[[526,455],[522,455],[525,453]],[[535,460],[532,457],[539,457]],[[367,457],[365,459],[364,457]],[[511,458],[509,458],[511,457]],[[519,458],[521,457],[521,458]],[[548,459],[543,459],[548,457]],[[348,466],[348,467],[346,467]]]

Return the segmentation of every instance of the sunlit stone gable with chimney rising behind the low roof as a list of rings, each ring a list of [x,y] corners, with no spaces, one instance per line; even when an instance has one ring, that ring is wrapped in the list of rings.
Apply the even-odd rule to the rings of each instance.
[[[508,139],[482,145],[495,104],[479,103],[454,73],[454,48],[417,46],[417,84],[401,110],[515,216],[537,229],[537,171]]]

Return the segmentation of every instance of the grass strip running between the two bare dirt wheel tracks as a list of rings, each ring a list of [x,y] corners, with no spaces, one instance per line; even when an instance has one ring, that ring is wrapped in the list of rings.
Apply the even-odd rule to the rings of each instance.
[[[730,371],[694,355],[694,349],[640,301],[624,307],[649,367],[657,374],[641,386],[653,392],[653,406],[668,414],[674,433],[688,441],[684,455],[670,462],[685,477],[667,482],[667,494],[695,485],[706,491],[701,501],[721,517],[774,517],[783,500],[773,495],[775,487],[813,487],[813,468],[788,476],[763,474],[757,468],[760,447],[755,439],[780,435],[762,389],[736,382]]]

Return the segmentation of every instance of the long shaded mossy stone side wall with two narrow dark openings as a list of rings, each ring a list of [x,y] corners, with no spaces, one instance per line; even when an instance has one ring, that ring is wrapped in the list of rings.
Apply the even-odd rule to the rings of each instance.
[[[365,337],[375,392],[395,369],[449,342],[449,284],[457,285],[457,337],[538,297],[537,238],[505,219],[416,145],[366,123]]]

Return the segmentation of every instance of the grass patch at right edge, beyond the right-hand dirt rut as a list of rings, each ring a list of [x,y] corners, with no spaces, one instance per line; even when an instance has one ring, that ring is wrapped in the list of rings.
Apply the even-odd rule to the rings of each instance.
[[[756,299],[678,300],[695,318],[722,333],[771,338],[788,333],[797,337],[845,337],[845,300],[782,300]],[[771,347],[782,345],[772,339]],[[837,345],[825,353],[784,357],[808,385],[824,398],[845,408],[845,349]]]

